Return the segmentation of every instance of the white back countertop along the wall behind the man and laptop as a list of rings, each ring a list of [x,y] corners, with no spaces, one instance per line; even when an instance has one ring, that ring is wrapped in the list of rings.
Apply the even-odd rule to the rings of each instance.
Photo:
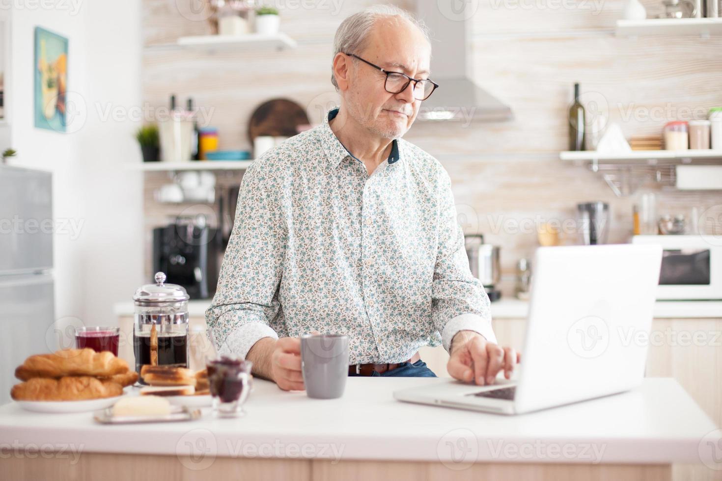
[[[204,317],[210,305],[210,299],[189,301],[188,314],[191,317]],[[133,301],[116,303],[113,312],[116,317],[132,316]],[[528,313],[529,301],[507,297],[492,302],[492,319],[526,319]],[[722,318],[722,301],[657,301],[654,317],[655,319]]]

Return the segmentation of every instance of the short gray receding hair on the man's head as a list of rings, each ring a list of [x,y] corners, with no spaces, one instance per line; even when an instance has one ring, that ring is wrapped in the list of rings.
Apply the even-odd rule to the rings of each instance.
[[[426,1],[426,0],[421,0]],[[368,36],[370,35],[371,29],[373,28],[374,22],[381,18],[393,18],[407,20],[415,25],[426,38],[427,42],[431,43],[429,38],[429,30],[427,29],[424,22],[414,17],[404,9],[400,9],[396,5],[374,5],[367,9],[363,9],[361,12],[350,15],[345,18],[339,29],[336,30],[336,36],[334,37],[334,56],[339,52],[359,52],[366,47]],[[334,84],[336,92],[339,91],[339,84],[336,82],[334,76],[334,66],[331,64],[331,84]]]

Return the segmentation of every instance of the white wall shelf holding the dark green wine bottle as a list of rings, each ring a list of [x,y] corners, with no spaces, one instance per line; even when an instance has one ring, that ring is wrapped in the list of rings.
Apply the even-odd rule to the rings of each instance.
[[[597,151],[563,151],[559,158],[567,162],[606,162],[627,164],[654,164],[656,161],[687,164],[695,160],[722,161],[722,150],[633,150],[627,154],[604,154]],[[635,162],[638,161],[638,162]],[[644,162],[641,162],[644,161]]]

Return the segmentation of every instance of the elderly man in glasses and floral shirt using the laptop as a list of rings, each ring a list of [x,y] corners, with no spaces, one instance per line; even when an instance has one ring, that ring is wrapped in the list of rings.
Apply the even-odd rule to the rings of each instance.
[[[438,87],[430,56],[425,28],[401,9],[344,19],[331,80],[340,107],[243,176],[206,319],[281,389],[304,389],[298,336],[315,330],[349,336],[351,376],[435,376],[417,350],[439,343],[467,382],[508,378],[518,362],[496,344],[448,174],[401,139]]]

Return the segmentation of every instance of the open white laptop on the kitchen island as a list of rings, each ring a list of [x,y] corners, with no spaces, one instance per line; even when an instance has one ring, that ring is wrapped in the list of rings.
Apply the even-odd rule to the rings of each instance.
[[[451,380],[393,397],[521,414],[638,386],[661,258],[661,246],[652,244],[540,247],[516,381],[484,387]]]

